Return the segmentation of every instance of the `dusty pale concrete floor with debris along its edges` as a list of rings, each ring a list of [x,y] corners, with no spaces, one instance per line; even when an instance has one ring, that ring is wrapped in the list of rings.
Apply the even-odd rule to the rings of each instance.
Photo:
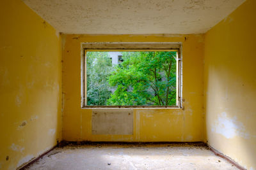
[[[27,169],[237,169],[204,145],[68,145]]]

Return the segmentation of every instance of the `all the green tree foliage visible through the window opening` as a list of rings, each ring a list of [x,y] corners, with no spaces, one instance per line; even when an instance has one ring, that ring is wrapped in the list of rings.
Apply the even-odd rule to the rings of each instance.
[[[88,54],[88,105],[175,105],[176,52],[122,52],[113,67],[108,52]]]

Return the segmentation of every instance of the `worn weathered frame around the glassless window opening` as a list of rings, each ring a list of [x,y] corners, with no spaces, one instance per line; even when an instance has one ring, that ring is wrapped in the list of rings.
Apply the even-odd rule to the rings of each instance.
[[[182,55],[181,46],[180,48],[81,48],[82,60],[81,60],[81,108],[92,109],[92,108],[182,108]],[[87,106],[87,73],[86,73],[86,52],[177,52],[177,64],[176,64],[176,105],[175,106]]]

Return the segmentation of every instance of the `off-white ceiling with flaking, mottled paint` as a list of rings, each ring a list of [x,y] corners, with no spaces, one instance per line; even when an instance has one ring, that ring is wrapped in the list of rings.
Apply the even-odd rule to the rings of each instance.
[[[67,34],[198,34],[245,0],[22,0]]]

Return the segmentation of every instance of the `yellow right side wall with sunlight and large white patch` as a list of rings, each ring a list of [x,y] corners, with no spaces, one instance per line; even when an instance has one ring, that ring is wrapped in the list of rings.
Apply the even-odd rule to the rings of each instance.
[[[247,0],[205,35],[209,145],[256,169],[256,1]]]

